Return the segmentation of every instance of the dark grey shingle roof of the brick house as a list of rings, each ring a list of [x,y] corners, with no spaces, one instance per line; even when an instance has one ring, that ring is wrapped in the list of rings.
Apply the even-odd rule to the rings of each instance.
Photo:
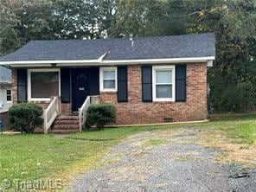
[[[170,35],[97,40],[32,41],[0,61],[166,59],[215,55],[214,34]]]

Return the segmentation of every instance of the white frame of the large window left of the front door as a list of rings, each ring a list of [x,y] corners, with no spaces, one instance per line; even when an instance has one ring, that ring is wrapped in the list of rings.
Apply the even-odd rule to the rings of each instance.
[[[28,69],[28,100],[29,101],[50,101],[51,98],[32,98],[31,97],[31,73],[32,72],[58,72],[59,73],[59,95],[61,96],[61,69],[60,68],[40,68]]]

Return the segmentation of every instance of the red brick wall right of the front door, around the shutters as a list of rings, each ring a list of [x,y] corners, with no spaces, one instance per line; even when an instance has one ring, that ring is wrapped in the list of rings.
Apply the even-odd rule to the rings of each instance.
[[[141,66],[128,67],[128,102],[118,103],[117,93],[100,93],[100,100],[117,106],[117,124],[163,123],[207,118],[207,65],[187,65],[186,102],[142,102]]]

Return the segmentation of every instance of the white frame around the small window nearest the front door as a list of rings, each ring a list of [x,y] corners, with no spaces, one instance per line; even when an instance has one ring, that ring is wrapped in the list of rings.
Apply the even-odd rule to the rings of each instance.
[[[115,71],[115,88],[104,88],[104,71]],[[118,91],[118,67],[100,67],[99,68],[99,91],[117,92]]]

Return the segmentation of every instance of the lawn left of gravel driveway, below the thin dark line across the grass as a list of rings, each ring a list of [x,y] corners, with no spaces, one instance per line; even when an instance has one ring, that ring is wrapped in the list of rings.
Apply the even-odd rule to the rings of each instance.
[[[78,161],[99,160],[113,141],[88,142],[53,135],[0,137],[0,181],[36,180],[58,176]]]

